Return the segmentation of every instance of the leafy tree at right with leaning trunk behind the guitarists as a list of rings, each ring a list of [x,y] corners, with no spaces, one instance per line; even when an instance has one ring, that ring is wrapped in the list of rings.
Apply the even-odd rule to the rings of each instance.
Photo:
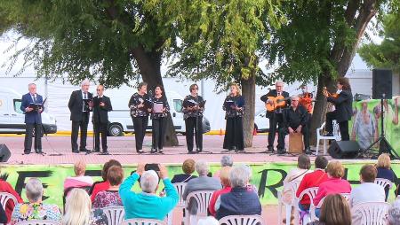
[[[378,12],[397,11],[397,6],[396,0],[302,0],[282,4],[288,23],[272,34],[265,52],[279,65],[274,76],[287,82],[317,82],[312,131],[324,120],[323,87],[336,89],[334,81],[347,73],[370,20]],[[380,21],[380,17],[377,19]],[[311,137],[315,141],[316,136]]]

